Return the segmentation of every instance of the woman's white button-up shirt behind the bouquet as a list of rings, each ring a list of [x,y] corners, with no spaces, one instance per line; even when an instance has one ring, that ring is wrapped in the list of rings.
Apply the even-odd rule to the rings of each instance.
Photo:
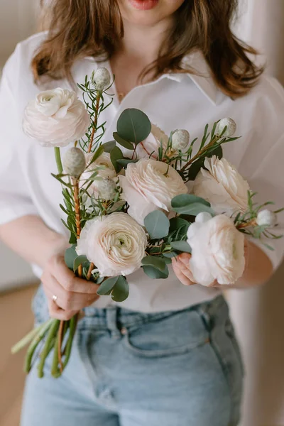
[[[26,214],[38,214],[45,224],[58,233],[67,234],[60,218],[61,187],[50,173],[56,173],[52,148],[43,148],[23,133],[23,110],[29,100],[44,89],[72,89],[66,80],[53,81],[44,87],[33,82],[31,60],[45,33],[33,35],[19,43],[4,67],[0,90],[0,224],[11,222]],[[119,104],[114,103],[102,114],[107,121],[104,141],[112,140],[116,121],[126,108],[144,111],[153,124],[165,133],[187,129],[191,138],[201,137],[204,126],[226,116],[238,125],[238,141],[226,144],[224,156],[258,192],[258,201],[273,200],[278,208],[284,206],[284,90],[271,77],[263,76],[251,92],[233,101],[226,97],[209,77],[201,54],[186,58],[202,76],[165,74],[155,82],[131,90]],[[78,60],[72,67],[75,82],[84,82],[97,67],[94,58]],[[110,70],[111,71],[111,70]],[[115,89],[115,87],[114,87]],[[78,95],[81,97],[80,90]],[[62,149],[62,155],[67,148]],[[283,240],[270,241],[275,251],[267,251],[277,268],[283,254]],[[41,271],[33,266],[35,274]],[[151,280],[142,270],[129,276],[130,296],[119,304],[141,312],[180,310],[219,294],[219,290],[182,285],[173,271],[166,280]],[[101,297],[97,307],[112,304],[110,297]]]

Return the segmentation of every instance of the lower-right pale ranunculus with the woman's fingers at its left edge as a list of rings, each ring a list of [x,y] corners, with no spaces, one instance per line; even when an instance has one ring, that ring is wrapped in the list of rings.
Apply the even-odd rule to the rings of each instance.
[[[244,234],[225,214],[199,219],[190,225],[187,242],[192,248],[190,269],[195,282],[209,286],[233,284],[241,278],[245,268]]]

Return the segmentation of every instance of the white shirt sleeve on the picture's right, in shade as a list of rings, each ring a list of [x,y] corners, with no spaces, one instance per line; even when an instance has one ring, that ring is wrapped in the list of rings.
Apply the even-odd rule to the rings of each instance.
[[[257,102],[247,110],[251,132],[241,161],[241,175],[249,181],[251,191],[256,192],[253,201],[258,205],[274,202],[275,205],[263,209],[275,211],[284,207],[284,89],[275,78],[263,76],[256,91]],[[284,212],[278,214],[278,226],[272,232],[278,236],[284,234]],[[263,237],[263,243],[273,250],[259,239],[250,239],[271,259],[275,271],[283,260],[284,238]]]

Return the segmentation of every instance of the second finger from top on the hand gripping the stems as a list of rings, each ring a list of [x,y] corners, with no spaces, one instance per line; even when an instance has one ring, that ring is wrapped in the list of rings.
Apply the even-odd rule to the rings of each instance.
[[[99,298],[97,294],[89,295],[67,291],[53,275],[50,275],[48,284],[45,285],[45,294],[49,299],[53,299],[53,295],[55,295],[57,297],[56,304],[64,310],[81,310],[83,307],[92,305]]]

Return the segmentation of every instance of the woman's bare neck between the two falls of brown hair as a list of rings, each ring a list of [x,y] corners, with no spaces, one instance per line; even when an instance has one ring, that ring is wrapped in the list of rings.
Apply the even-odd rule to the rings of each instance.
[[[168,19],[155,26],[145,27],[124,21],[124,38],[121,40],[118,55],[138,60],[145,65],[150,64],[158,58],[171,23],[171,19]]]

